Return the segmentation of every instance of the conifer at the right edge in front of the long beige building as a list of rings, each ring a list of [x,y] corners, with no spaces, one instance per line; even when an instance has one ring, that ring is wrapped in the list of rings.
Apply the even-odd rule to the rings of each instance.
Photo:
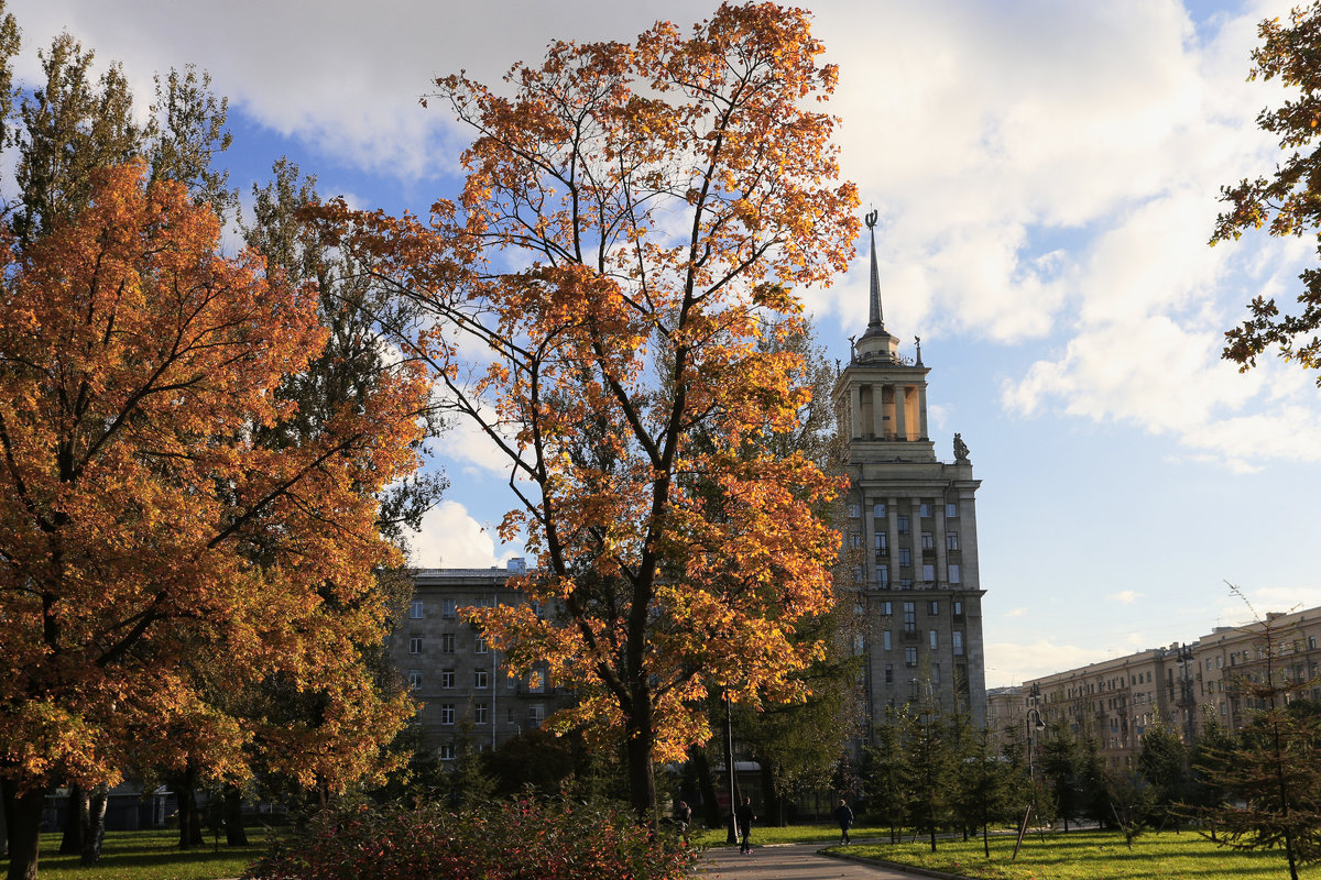
[[[1281,660],[1291,645],[1280,624],[1268,616],[1259,625],[1262,662],[1236,682],[1252,720],[1232,760],[1206,749],[1199,768],[1230,800],[1198,815],[1222,833],[1222,846],[1284,850],[1289,877],[1297,880],[1300,864],[1321,860],[1321,714],[1300,699],[1314,682],[1291,678]]]

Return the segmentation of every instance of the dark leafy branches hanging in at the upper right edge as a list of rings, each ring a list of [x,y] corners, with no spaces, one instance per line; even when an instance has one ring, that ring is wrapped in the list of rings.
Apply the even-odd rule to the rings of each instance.
[[[1273,236],[1316,236],[1321,253],[1321,1],[1296,8],[1288,24],[1268,18],[1258,26],[1262,45],[1252,50],[1250,79],[1276,79],[1296,90],[1277,108],[1266,108],[1256,124],[1280,139],[1287,158],[1269,178],[1244,178],[1222,190],[1229,207],[1219,215],[1211,244],[1238,239],[1266,226]],[[1321,369],[1321,269],[1305,269],[1295,314],[1280,313],[1273,298],[1259,296],[1248,305],[1250,318],[1226,332],[1225,358],[1242,369],[1258,355],[1279,347],[1285,360],[1304,369]],[[1321,376],[1317,377],[1321,384]]]

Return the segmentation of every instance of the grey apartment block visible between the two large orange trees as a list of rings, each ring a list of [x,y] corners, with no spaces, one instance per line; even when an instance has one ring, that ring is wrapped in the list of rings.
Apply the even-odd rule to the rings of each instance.
[[[420,569],[404,619],[390,637],[390,654],[419,701],[424,740],[443,760],[460,740],[495,748],[542,722],[572,697],[544,672],[514,677],[468,623],[461,608],[523,604],[506,586],[523,574],[522,559],[505,569]],[[538,610],[540,612],[540,610]]]

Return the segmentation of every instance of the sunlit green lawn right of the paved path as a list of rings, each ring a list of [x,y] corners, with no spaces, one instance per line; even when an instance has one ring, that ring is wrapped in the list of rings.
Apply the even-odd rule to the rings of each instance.
[[[855,835],[857,836],[857,835]],[[1279,850],[1236,852],[1217,847],[1194,831],[1148,833],[1132,851],[1118,831],[1028,835],[1017,862],[1012,835],[991,838],[991,858],[982,840],[939,840],[933,854],[922,842],[853,844],[849,855],[900,862],[985,880],[1279,880],[1288,876]],[[844,847],[832,847],[844,851]],[[1308,871],[1306,873],[1316,873]],[[1316,873],[1321,876],[1321,873]]]

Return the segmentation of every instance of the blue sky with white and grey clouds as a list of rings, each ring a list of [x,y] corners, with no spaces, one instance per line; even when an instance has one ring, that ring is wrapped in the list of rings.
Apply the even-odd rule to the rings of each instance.
[[[839,65],[844,177],[880,214],[888,329],[922,338],[930,433],[959,431],[978,493],[987,685],[1193,641],[1252,611],[1321,606],[1321,391],[1271,358],[1239,373],[1223,332],[1266,293],[1293,302],[1316,259],[1266,235],[1207,247],[1223,185],[1269,173],[1246,82],[1260,20],[1288,3],[822,0]],[[231,183],[295,160],[324,195],[425,211],[460,185],[469,133],[419,98],[440,75],[495,82],[551,40],[631,40],[660,4],[605,0],[9,0],[17,74],[62,29],[152,75],[194,63],[230,99]],[[682,26],[712,3],[667,0]],[[847,358],[867,325],[869,248],[804,292]],[[522,554],[513,499],[470,431],[435,443],[450,479],[419,566]]]

